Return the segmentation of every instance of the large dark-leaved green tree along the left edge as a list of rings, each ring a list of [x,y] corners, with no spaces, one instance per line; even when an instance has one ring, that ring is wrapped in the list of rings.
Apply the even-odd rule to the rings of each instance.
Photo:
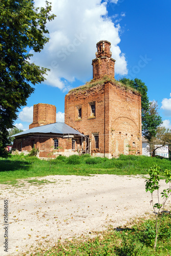
[[[46,68],[30,62],[28,51],[40,52],[49,38],[46,23],[54,19],[51,5],[35,8],[33,0],[1,0],[0,5],[0,156],[8,143],[20,106],[45,80]]]

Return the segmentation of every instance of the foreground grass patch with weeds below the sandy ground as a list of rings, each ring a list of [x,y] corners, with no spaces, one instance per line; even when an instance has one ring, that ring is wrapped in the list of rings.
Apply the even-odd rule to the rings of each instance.
[[[94,238],[80,237],[72,241],[60,241],[50,249],[37,248],[36,256],[52,255],[118,255],[118,256],[168,256],[171,255],[171,215],[162,218],[156,251],[153,250],[155,239],[155,217],[149,220],[137,219],[131,225],[112,227],[107,231],[93,232]],[[27,252],[26,252],[27,253]],[[26,254],[24,254],[26,255]]]

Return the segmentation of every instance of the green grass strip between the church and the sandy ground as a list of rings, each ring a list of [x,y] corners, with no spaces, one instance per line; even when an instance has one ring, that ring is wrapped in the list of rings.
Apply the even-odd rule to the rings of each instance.
[[[36,157],[12,155],[8,159],[0,158],[0,183],[15,184],[17,179],[48,175],[146,175],[148,168],[155,164],[162,170],[171,168],[169,159],[159,157],[121,155],[118,159],[108,159],[85,155],[69,158],[60,156],[46,161]]]

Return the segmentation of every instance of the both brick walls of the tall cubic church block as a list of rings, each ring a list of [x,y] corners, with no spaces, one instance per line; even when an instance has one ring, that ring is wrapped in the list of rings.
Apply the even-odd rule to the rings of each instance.
[[[96,116],[92,118],[89,102],[96,105]],[[77,106],[82,108],[81,119],[77,119]],[[141,154],[141,96],[115,83],[105,82],[67,94],[65,123],[92,139],[92,153],[116,157],[127,154],[126,145],[130,144],[130,154]],[[99,150],[94,148],[93,133],[99,134]]]

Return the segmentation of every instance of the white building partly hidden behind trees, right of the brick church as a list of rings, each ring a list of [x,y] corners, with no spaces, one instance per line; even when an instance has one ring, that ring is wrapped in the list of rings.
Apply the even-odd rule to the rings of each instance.
[[[156,147],[157,146],[161,146],[161,145],[156,145]],[[143,156],[151,156],[151,153],[149,152],[148,148],[149,148],[148,141],[142,136],[142,155]],[[166,143],[164,146],[157,148],[155,153],[157,156],[168,158],[168,143]]]

